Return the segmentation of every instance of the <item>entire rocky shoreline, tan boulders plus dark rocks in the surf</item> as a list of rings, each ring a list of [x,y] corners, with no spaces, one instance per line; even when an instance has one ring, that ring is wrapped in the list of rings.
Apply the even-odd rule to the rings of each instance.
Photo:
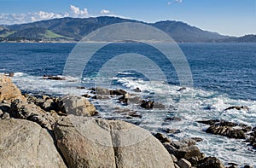
[[[9,77],[0,75],[0,167],[238,167],[239,163],[224,165],[215,157],[206,157],[196,146],[201,138],[174,141],[125,121],[99,119],[88,98],[119,96],[123,104],[164,106],[131,97],[125,90],[91,91],[96,96],[21,95]],[[129,110],[119,113],[126,118],[141,117]],[[219,120],[198,122],[210,125],[207,133],[244,139],[256,148],[256,128]]]

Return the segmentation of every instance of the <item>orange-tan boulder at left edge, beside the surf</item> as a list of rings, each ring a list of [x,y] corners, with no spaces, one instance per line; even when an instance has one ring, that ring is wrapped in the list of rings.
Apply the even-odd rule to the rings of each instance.
[[[11,102],[15,99],[26,101],[26,98],[21,95],[20,90],[12,80],[4,75],[0,75],[0,101]]]

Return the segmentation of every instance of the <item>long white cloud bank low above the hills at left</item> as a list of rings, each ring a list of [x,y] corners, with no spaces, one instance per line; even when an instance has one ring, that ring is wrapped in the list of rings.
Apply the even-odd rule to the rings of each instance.
[[[27,14],[0,14],[0,25],[13,25],[13,24],[20,24],[20,23],[27,23],[33,22],[38,20],[50,20],[55,18],[63,18],[63,17],[79,17],[79,18],[86,18],[90,17],[88,10],[86,8],[79,9],[74,5],[70,5],[70,11],[55,14],[52,12],[33,12]]]

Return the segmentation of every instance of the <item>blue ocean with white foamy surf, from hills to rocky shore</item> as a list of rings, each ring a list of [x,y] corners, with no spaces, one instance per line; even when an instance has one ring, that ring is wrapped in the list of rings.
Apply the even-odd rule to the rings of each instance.
[[[162,49],[166,47],[165,43],[158,45]],[[256,43],[177,45],[187,60],[193,79],[193,83],[181,91],[178,90],[183,85],[175,64],[166,61],[160,55],[160,50],[149,49],[150,46],[142,43],[116,43],[109,45],[108,49],[99,50],[84,65],[82,76],[67,76],[67,73],[63,73],[76,43],[0,43],[0,72],[15,72],[12,78],[14,83],[22,92],[34,95],[90,94],[87,89],[108,80],[104,87],[123,89],[136,96],[150,98],[166,108],[145,110],[135,104],[122,105],[115,98],[91,100],[102,118],[122,119],[152,132],[165,128],[176,129],[178,131],[175,134],[166,136],[173,139],[201,137],[203,141],[198,146],[207,156],[218,157],[226,164],[239,162],[237,164],[256,166],[256,152],[244,140],[207,134],[203,131],[207,125],[196,122],[202,119],[223,119],[256,126]],[[84,55],[86,52],[84,50]],[[120,56],[111,62],[113,55]],[[142,55],[144,57],[140,57]],[[135,57],[143,58],[143,61],[132,62]],[[160,69],[154,66],[153,61],[157,62]],[[106,62],[107,66],[102,68]],[[131,69],[125,69],[124,66],[129,66],[129,63]],[[75,71],[76,65],[72,66]],[[113,73],[114,76],[109,78],[104,71],[99,73],[101,68],[105,72],[114,72],[114,68],[125,71]],[[160,78],[160,70],[166,80]],[[46,80],[44,75],[66,75],[64,78],[67,80]],[[86,89],[79,89],[79,86]],[[136,88],[142,92],[135,92]],[[247,106],[249,110],[224,111],[230,106]],[[112,113],[116,109],[137,111],[142,118],[126,119],[119,113]],[[174,116],[182,120],[165,122],[166,117]]]

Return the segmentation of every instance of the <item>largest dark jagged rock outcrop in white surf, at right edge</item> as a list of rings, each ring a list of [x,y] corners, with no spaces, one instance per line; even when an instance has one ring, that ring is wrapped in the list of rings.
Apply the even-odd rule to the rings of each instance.
[[[246,142],[250,142],[250,145],[256,149],[256,127],[252,128],[251,126],[236,124],[229,121],[220,121],[218,119],[197,122],[210,125],[206,130],[207,133],[236,139],[245,139]]]

